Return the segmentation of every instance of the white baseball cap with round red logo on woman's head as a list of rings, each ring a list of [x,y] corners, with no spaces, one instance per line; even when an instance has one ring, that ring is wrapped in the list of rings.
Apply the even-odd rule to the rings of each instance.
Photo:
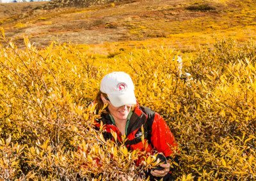
[[[131,76],[122,71],[105,75],[100,83],[100,91],[108,95],[109,101],[115,107],[136,104]]]

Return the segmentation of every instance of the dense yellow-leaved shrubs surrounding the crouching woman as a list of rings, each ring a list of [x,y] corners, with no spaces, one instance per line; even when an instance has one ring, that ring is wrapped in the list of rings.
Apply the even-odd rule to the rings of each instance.
[[[0,49],[1,180],[146,180],[156,156],[105,140],[103,125],[93,129],[100,115],[91,103],[111,71],[129,73],[138,103],[170,126],[180,147],[177,180],[256,179],[252,41],[217,41],[184,56],[182,66],[180,53],[164,47],[99,57],[54,42],[42,50],[24,43]],[[136,166],[139,157],[145,164]]]

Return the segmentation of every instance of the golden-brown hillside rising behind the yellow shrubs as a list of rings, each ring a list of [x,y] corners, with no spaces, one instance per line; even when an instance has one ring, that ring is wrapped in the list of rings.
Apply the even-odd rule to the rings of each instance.
[[[125,1],[89,8],[55,8],[1,15],[6,37],[22,46],[23,35],[37,47],[53,40],[115,47],[170,45],[186,52],[214,38],[255,39],[256,4],[253,1]],[[33,4],[33,3],[32,3]],[[44,4],[46,6],[46,4]],[[38,6],[38,7],[42,7]],[[8,7],[10,9],[10,7]],[[124,46],[125,45],[125,46]]]

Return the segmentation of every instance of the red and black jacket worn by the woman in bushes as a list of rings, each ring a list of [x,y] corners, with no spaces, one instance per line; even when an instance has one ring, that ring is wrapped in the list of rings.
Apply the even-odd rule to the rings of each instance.
[[[102,113],[99,120],[104,124],[104,138],[113,140],[111,130],[117,134],[118,141],[122,141],[122,133],[113,124],[108,113]],[[100,124],[96,124],[96,127]],[[143,126],[144,131],[141,130]],[[145,142],[141,141],[144,133]],[[131,115],[129,126],[126,133],[127,141],[125,145],[129,150],[141,150],[153,154],[154,152],[162,152],[164,156],[170,157],[174,149],[177,148],[174,136],[167,126],[164,119],[156,112],[149,108],[136,105]]]

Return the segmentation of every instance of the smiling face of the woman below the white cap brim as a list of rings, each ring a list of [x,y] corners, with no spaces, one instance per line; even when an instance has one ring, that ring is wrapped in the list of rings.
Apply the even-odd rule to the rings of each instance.
[[[120,107],[115,107],[111,104],[111,102],[108,99],[106,99],[104,97],[102,98],[102,101],[104,103],[108,103],[109,113],[114,117],[115,121],[127,119],[127,116],[129,114],[129,112],[131,111],[132,105],[124,105],[124,106],[120,106]]]

